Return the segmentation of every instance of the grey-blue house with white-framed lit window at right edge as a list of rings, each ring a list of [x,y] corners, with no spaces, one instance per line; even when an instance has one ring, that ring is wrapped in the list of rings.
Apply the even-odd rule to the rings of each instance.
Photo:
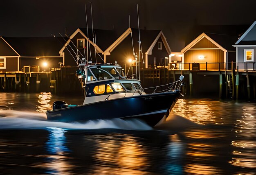
[[[233,46],[236,48],[236,66],[238,69],[256,70],[256,21]]]

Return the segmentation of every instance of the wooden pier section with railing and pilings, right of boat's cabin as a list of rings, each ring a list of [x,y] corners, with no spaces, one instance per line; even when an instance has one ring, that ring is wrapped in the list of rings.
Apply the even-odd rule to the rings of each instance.
[[[214,63],[216,69],[192,68],[193,63],[182,63],[187,67],[180,66],[180,69],[167,69],[167,68],[151,68],[142,69],[141,77],[142,83],[145,82],[143,87],[155,85],[163,85],[171,83],[179,79],[180,75],[184,75],[185,86],[182,90],[185,96],[191,97],[207,97],[218,96],[219,98],[230,99],[247,99],[256,100],[256,70],[248,69],[247,64],[243,63],[243,69],[235,68],[235,63]],[[207,64],[207,63],[206,63]],[[208,63],[210,64],[210,63]],[[222,67],[222,68],[221,68]],[[230,69],[227,69],[230,67]]]

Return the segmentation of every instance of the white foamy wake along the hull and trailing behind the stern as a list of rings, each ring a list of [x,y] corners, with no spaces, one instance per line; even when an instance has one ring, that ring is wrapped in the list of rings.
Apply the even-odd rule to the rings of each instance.
[[[0,129],[46,129],[58,127],[63,129],[123,129],[151,130],[152,128],[141,120],[89,120],[86,123],[63,123],[47,121],[46,115],[36,112],[0,110]]]

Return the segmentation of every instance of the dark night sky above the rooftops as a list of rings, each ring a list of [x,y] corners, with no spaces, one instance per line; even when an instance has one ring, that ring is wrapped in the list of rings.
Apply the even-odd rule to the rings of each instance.
[[[184,47],[184,39],[193,25],[252,24],[256,20],[255,0],[4,0],[0,10],[0,35],[11,37],[52,36],[73,33],[93,26],[117,29],[161,29],[172,51]],[[143,41],[142,41],[143,44]]]

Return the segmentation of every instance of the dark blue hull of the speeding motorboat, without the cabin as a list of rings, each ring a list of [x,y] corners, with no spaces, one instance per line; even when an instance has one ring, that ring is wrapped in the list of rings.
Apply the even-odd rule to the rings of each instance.
[[[180,91],[117,98],[46,112],[48,120],[60,122],[112,118],[138,118],[155,126],[169,112],[182,94]]]

